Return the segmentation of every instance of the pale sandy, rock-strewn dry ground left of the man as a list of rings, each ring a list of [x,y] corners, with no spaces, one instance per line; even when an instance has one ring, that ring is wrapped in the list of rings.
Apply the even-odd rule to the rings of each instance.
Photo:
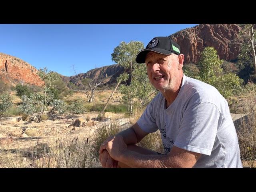
[[[78,141],[91,144],[94,132],[102,126],[112,121],[120,125],[128,124],[129,119],[124,119],[124,114],[112,114],[107,112],[104,122],[96,121],[98,113],[76,115],[51,115],[48,120],[34,122],[32,120],[23,121],[20,116],[11,118],[0,118],[0,151],[12,154],[11,159],[15,159],[19,152],[31,151],[35,146],[48,148],[56,144],[57,140],[70,142],[78,138]],[[81,124],[74,126],[76,120]],[[111,119],[111,120],[110,120]],[[32,159],[24,156],[27,162],[26,167],[31,166]],[[30,165],[30,166],[29,166]],[[1,164],[0,164],[1,167]]]

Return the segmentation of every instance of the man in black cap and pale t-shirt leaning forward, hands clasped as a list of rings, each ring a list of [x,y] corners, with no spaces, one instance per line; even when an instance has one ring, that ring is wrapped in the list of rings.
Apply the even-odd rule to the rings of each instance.
[[[183,74],[184,55],[169,37],[153,38],[138,52],[160,92],[131,128],[100,146],[103,167],[242,168],[228,103],[213,86]],[[160,130],[165,154],[135,146]]]

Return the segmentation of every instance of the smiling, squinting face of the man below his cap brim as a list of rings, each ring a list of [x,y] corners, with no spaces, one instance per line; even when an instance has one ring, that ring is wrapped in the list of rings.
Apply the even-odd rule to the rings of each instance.
[[[148,78],[156,89],[166,91],[176,88],[180,78],[178,55],[150,51],[146,55],[145,63]]]

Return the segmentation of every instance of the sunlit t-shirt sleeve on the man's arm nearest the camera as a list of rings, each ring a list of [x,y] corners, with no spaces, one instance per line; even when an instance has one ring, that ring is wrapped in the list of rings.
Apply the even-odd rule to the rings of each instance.
[[[210,155],[221,118],[222,115],[214,104],[194,104],[184,112],[174,146]]]

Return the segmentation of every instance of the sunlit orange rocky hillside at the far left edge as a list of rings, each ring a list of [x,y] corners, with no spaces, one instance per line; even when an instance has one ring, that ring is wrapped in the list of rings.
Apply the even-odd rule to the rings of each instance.
[[[14,56],[0,53],[0,76],[4,82],[23,82],[41,86],[42,81],[36,74],[37,72],[38,70],[27,62]]]

